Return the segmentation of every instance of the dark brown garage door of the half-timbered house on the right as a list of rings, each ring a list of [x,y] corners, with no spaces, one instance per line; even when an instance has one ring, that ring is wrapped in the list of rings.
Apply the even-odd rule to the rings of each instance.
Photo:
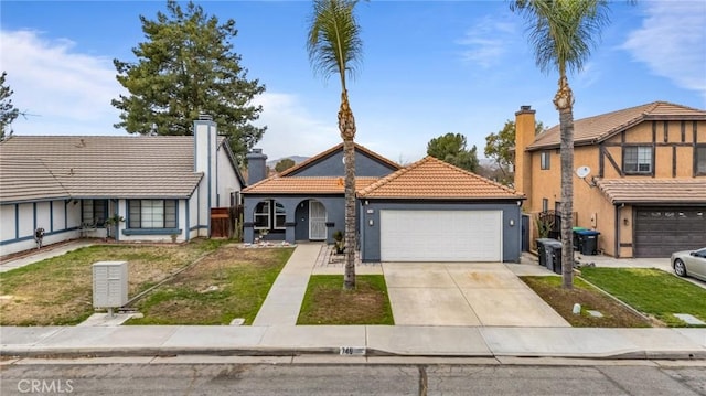
[[[639,207],[634,218],[635,257],[706,246],[706,207]]]

